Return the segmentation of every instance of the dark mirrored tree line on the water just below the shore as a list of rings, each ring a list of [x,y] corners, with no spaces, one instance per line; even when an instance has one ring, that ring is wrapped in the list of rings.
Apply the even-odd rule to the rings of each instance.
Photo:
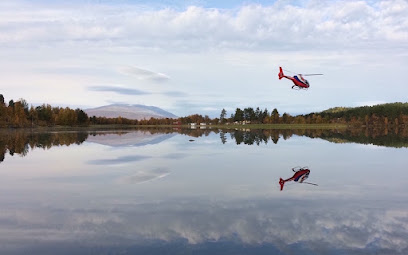
[[[287,140],[292,136],[320,138],[332,143],[359,143],[376,146],[408,148],[408,129],[397,129],[391,132],[388,129],[187,129],[178,127],[168,128],[138,128],[124,130],[81,130],[81,131],[29,131],[29,130],[1,130],[0,131],[0,162],[4,161],[5,154],[25,156],[30,149],[50,149],[53,146],[80,145],[85,141],[95,141],[104,137],[105,142],[110,136],[124,136],[130,146],[143,146],[149,143],[160,143],[163,139],[151,138],[160,134],[182,134],[199,138],[211,133],[219,134],[222,144],[233,141],[235,144],[261,145],[270,142],[277,144],[280,139]],[[133,138],[126,138],[134,134]],[[130,135],[132,136],[132,135]],[[92,137],[92,139],[90,139]],[[96,139],[95,139],[96,138]],[[116,139],[116,138],[114,138]],[[148,141],[146,141],[148,140]],[[190,139],[191,140],[191,139]]]

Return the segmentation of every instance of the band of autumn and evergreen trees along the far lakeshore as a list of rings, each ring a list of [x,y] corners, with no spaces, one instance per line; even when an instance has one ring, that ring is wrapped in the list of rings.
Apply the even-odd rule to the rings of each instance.
[[[214,125],[239,124],[344,124],[349,127],[395,129],[408,125],[408,103],[388,103],[362,107],[336,107],[322,112],[292,116],[279,113],[274,108],[261,110],[259,107],[236,108],[230,116],[225,109],[219,118],[193,114],[177,119],[150,118],[148,120],[130,120],[122,117],[88,117],[81,109],[52,107],[49,104],[30,106],[24,99],[10,100],[6,104],[0,94],[0,127],[37,127],[37,126],[88,126],[88,125],[187,125],[206,123]]]

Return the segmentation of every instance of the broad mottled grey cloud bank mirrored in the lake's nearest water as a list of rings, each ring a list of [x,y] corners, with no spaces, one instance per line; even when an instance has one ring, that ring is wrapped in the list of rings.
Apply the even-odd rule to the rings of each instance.
[[[31,245],[27,239],[44,245],[64,240],[102,247],[142,247],[158,241],[170,245],[185,240],[197,247],[211,242],[254,247],[269,244],[290,254],[408,251],[406,207],[387,209],[350,201],[324,204],[296,200],[171,201],[113,210],[3,210],[0,233],[3,241],[20,247]],[[15,224],[20,227],[14,228]]]

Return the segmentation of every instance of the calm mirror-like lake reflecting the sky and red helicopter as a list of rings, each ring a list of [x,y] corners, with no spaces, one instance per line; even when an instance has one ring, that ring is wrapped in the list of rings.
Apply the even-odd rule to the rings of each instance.
[[[2,131],[0,254],[408,254],[407,144],[339,130]]]

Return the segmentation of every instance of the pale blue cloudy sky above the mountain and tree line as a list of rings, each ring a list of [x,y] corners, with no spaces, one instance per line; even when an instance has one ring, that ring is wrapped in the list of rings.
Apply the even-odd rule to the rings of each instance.
[[[406,17],[404,0],[2,1],[0,93],[211,117],[406,102]],[[294,91],[279,66],[324,75]]]

